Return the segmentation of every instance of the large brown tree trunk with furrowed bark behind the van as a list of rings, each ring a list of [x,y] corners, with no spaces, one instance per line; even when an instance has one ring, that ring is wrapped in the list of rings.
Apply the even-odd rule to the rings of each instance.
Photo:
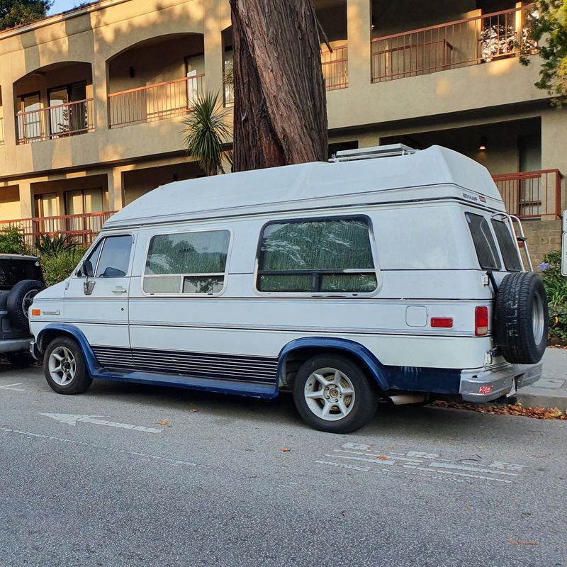
[[[233,171],[327,159],[327,99],[312,0],[230,0]]]

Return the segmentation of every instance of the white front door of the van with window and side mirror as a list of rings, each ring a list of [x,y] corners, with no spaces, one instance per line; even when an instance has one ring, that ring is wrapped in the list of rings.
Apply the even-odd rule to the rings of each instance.
[[[133,366],[128,331],[133,244],[132,235],[101,238],[65,292],[65,321],[79,327],[106,368]]]

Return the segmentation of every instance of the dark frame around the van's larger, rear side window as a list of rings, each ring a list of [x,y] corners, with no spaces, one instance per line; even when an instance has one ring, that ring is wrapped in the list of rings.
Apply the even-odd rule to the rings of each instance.
[[[329,220],[364,220],[366,223],[366,228],[368,229],[370,249],[372,253],[372,262],[374,262],[374,270],[354,270],[347,269],[344,271],[337,270],[317,270],[318,274],[375,274],[376,275],[376,289],[374,291],[260,291],[258,289],[258,277],[260,273],[264,270],[259,269],[260,254],[262,252],[262,243],[264,241],[264,231],[270,225],[281,225],[281,224],[291,224],[291,223],[317,223]],[[290,274],[294,273],[309,274],[315,273],[313,270],[283,270],[283,271],[271,271],[270,274]],[[372,225],[372,219],[369,215],[364,214],[354,214],[354,215],[325,215],[321,217],[293,217],[293,218],[276,218],[268,220],[260,228],[258,244],[256,248],[256,258],[254,259],[254,282],[253,291],[257,296],[260,297],[302,297],[302,298],[368,298],[374,297],[380,293],[383,285],[382,274],[380,269],[380,264],[378,264],[378,255],[376,254],[376,237],[374,235],[374,227]]]

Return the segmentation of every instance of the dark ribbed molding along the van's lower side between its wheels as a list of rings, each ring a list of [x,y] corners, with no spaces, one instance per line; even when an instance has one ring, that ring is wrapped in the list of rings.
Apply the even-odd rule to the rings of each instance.
[[[236,354],[92,347],[101,366],[152,374],[179,374],[254,383],[276,383],[277,359]]]

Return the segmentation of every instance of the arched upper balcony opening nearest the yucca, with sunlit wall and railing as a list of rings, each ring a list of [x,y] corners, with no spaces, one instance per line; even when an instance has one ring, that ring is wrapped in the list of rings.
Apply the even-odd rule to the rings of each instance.
[[[108,60],[111,128],[185,116],[203,93],[203,35],[162,35]]]

